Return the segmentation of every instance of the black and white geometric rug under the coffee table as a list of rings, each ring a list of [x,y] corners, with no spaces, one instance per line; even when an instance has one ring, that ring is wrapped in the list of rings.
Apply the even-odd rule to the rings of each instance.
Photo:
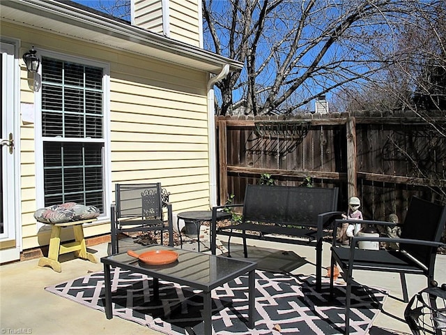
[[[201,291],[160,281],[160,301],[152,301],[151,278],[120,268],[112,269],[114,317],[146,325],[165,334],[203,334]],[[102,271],[45,290],[79,304],[104,311]],[[213,290],[212,324],[215,334],[342,334],[344,286],[336,285],[339,300],[329,301],[328,284],[315,290],[314,277],[256,271],[254,329],[247,328],[247,276]],[[354,286],[350,334],[367,334],[387,292]],[[105,315],[104,315],[105,318]]]

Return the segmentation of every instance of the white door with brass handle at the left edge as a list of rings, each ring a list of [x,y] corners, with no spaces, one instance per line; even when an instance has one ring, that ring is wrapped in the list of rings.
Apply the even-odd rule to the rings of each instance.
[[[0,262],[20,259],[20,233],[17,227],[17,124],[16,46],[1,42],[1,203]],[[17,63],[18,67],[18,63]],[[16,134],[17,133],[17,134]]]

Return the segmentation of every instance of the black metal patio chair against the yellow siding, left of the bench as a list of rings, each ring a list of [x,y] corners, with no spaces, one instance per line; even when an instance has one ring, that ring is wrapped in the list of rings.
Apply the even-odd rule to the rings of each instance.
[[[169,232],[169,246],[174,246],[174,225],[172,207],[166,201],[169,193],[154,184],[116,184],[116,201],[112,204],[112,255],[119,252],[118,237],[128,232]],[[163,207],[167,208],[167,223],[164,222]]]

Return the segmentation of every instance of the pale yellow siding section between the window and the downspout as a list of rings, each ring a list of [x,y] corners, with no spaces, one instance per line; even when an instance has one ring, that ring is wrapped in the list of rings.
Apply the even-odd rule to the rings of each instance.
[[[134,55],[121,54],[112,65],[112,182],[160,181],[174,212],[208,209],[206,73],[148,62],[137,67]]]

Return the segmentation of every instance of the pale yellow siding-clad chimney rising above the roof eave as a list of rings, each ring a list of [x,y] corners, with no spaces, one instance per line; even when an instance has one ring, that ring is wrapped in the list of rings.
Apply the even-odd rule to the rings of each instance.
[[[203,47],[201,0],[131,0],[132,25]]]

